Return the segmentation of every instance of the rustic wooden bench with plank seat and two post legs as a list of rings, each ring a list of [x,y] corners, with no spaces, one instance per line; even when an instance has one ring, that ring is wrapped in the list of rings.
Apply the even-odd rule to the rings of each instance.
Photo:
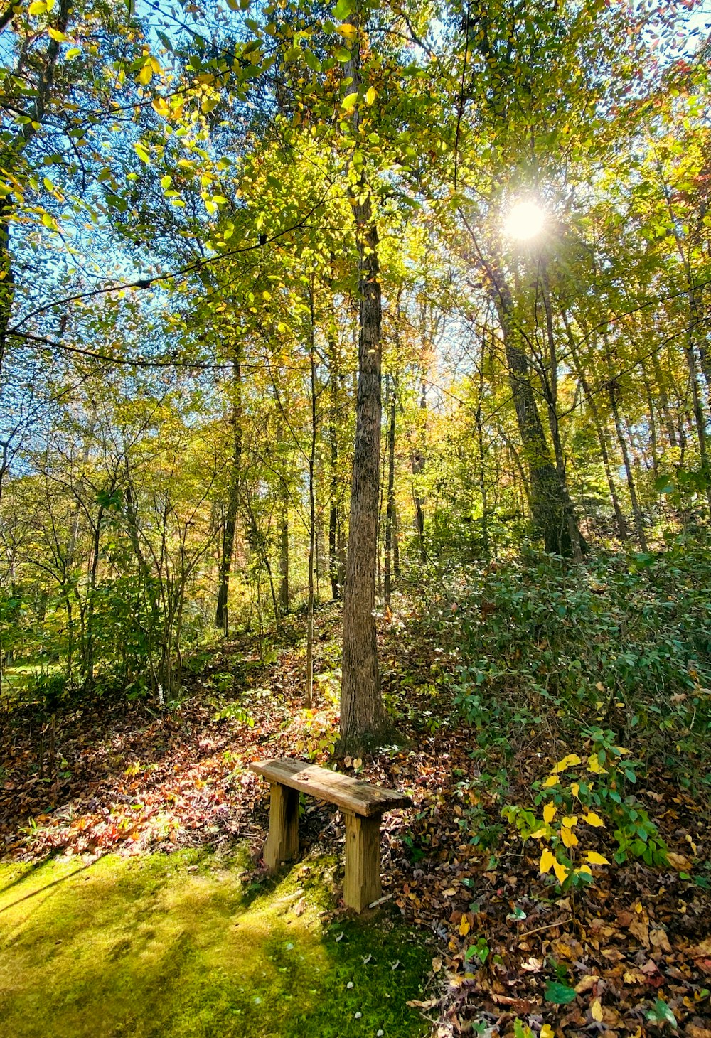
[[[357,912],[381,895],[380,819],[384,811],[409,808],[409,796],[382,789],[317,764],[289,758],[254,761],[252,771],[271,784],[269,836],[264,859],[270,872],[299,851],[299,793],[327,800],[340,808],[346,818],[346,879],[344,901]]]

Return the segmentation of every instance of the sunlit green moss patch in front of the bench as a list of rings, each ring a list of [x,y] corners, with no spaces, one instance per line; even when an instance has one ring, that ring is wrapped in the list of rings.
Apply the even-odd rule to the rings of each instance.
[[[246,890],[241,871],[204,851],[0,865],[3,1035],[427,1033],[406,1005],[421,937],[386,914],[325,925],[323,862]]]

